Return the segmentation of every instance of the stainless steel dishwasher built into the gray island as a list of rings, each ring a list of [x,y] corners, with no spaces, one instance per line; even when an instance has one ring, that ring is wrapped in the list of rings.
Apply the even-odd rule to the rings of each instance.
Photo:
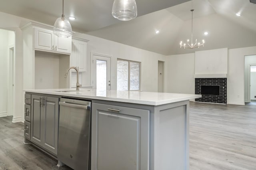
[[[91,102],[61,98],[58,160],[75,170],[90,166]]]

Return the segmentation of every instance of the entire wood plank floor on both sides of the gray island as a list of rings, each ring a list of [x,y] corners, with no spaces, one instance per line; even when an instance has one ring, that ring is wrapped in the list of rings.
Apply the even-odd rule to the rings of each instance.
[[[23,144],[23,123],[11,120],[0,118],[0,170],[57,170],[56,160]],[[256,105],[190,102],[190,170],[256,170]]]

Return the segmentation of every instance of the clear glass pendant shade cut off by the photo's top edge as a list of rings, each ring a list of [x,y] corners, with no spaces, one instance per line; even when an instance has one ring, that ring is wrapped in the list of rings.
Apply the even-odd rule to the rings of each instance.
[[[137,5],[135,0],[114,0],[112,16],[121,21],[129,21],[137,16]]]

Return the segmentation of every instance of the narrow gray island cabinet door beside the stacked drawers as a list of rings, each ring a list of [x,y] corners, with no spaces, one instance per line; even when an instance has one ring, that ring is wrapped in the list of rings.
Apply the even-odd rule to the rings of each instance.
[[[38,95],[31,96],[31,140],[42,146],[42,109],[41,97]]]

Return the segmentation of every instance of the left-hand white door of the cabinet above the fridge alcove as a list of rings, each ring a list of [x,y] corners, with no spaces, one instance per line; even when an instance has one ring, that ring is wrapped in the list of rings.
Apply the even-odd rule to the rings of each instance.
[[[35,48],[52,51],[54,49],[54,34],[51,30],[35,28]]]

